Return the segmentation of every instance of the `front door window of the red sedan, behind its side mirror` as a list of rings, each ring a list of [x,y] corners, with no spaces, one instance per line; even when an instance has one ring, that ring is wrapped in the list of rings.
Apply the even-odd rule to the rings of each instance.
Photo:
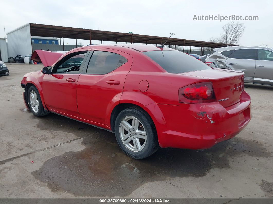
[[[79,72],[87,51],[72,53],[61,59],[54,67],[54,73]]]

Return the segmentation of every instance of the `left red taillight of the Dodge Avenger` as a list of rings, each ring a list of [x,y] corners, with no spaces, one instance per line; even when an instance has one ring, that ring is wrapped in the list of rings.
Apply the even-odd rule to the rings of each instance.
[[[201,82],[179,89],[180,103],[207,103],[215,101],[212,83]]]

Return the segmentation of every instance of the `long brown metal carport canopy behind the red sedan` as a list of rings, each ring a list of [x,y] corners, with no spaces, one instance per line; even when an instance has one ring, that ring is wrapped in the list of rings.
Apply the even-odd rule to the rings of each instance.
[[[42,36],[42,37],[59,37],[59,38],[71,38],[71,39],[85,39],[85,40],[103,40],[103,41],[114,41],[114,42],[129,42],[129,43],[147,43],[147,44],[164,44],[168,37],[158,37],[150,35],[139,35],[120,33],[112,31],[100,31],[93,29],[82,29],[82,28],[70,28],[64,26],[52,26],[29,23],[31,36]],[[198,40],[187,40],[179,38],[170,38],[166,45],[182,45],[192,47],[227,47],[238,46],[234,44],[206,42]]]

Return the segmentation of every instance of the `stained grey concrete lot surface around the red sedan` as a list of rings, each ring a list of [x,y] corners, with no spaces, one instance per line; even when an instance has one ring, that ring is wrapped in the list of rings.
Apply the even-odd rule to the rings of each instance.
[[[20,81],[43,65],[7,66],[10,75],[0,77],[0,198],[273,197],[273,86],[245,85],[253,117],[235,138],[134,160],[113,133],[56,114],[34,117]]]

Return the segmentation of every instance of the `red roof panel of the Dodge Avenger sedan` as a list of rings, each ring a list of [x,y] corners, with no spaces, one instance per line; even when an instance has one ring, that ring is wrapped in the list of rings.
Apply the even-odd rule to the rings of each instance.
[[[168,47],[160,48],[156,47],[156,45],[143,45],[143,44],[100,44],[100,45],[87,45],[84,47],[78,47],[76,49],[82,49],[82,48],[110,48],[113,49],[113,47],[119,47],[119,48],[125,48],[125,49],[133,49],[139,52],[146,52],[146,51],[154,51],[154,50],[174,50]]]

